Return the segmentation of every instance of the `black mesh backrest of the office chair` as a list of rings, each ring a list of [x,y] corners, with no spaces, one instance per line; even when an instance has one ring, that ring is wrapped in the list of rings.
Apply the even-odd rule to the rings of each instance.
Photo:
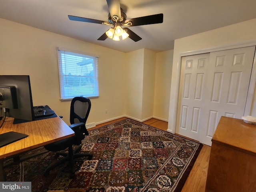
[[[91,101],[86,97],[74,97],[70,104],[70,124],[86,123],[91,109]]]

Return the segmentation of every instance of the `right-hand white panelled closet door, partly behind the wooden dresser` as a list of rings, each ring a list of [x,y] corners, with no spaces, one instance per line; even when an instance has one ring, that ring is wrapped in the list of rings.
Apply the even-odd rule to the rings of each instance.
[[[244,116],[254,52],[255,46],[210,53],[200,142],[212,145],[221,116]]]

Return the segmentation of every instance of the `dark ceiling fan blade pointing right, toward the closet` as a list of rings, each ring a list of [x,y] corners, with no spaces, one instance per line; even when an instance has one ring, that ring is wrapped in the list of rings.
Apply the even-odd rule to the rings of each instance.
[[[156,24],[162,23],[164,18],[164,14],[156,14],[156,15],[148,15],[144,17],[137,17],[133,19],[127,19],[125,22],[131,21],[131,26],[139,26],[139,25],[149,25],[149,24]]]

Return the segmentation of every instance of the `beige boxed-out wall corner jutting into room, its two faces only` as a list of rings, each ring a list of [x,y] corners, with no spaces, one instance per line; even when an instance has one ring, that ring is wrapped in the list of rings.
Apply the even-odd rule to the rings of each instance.
[[[125,114],[138,121],[153,117],[156,53],[140,49],[126,54]]]

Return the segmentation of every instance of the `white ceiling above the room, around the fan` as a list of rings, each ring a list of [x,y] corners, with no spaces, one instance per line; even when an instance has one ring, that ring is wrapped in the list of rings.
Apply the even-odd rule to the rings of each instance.
[[[71,21],[68,15],[108,20],[106,0],[0,0],[0,18],[122,52],[174,48],[174,40],[256,18],[256,0],[120,0],[129,18],[163,13],[164,22],[133,26],[142,40],[97,40],[110,26]]]

